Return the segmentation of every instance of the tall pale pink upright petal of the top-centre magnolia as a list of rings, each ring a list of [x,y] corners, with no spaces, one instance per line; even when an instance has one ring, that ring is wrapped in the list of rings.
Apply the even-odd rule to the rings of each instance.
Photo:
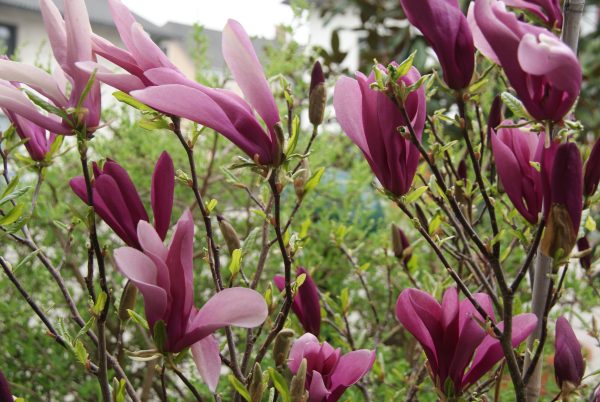
[[[280,120],[277,105],[252,42],[239,22],[227,21],[223,29],[222,47],[223,58],[233,78],[267,124],[267,128],[272,130]]]

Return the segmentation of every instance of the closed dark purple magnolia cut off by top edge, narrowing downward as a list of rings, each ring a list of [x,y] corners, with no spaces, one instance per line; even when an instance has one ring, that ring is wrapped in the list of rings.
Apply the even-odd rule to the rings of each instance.
[[[423,33],[452,89],[471,82],[475,65],[473,36],[457,0],[400,0],[404,14]]]

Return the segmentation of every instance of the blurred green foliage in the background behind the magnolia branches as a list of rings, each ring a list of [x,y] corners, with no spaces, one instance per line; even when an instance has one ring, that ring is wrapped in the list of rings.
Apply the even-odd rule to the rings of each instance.
[[[388,63],[392,60],[403,60],[414,51],[417,51],[414,64],[421,71],[427,72],[431,67],[435,67],[426,43],[421,36],[415,35],[414,30],[408,28],[396,0],[336,0],[317,2],[317,4],[318,8],[313,9],[312,12],[321,13],[324,18],[345,12],[348,7],[359,10],[361,24],[349,29],[364,32],[364,39],[361,42],[361,71],[368,73],[374,59],[381,63]],[[312,7],[315,5],[313,4]],[[278,42],[266,49],[263,63],[267,76],[272,77],[272,87],[281,105],[282,116],[286,115],[283,89],[289,85],[294,98],[293,112],[301,115],[303,120],[307,120],[305,110],[308,84],[314,60],[321,60],[328,72],[329,102],[339,74],[353,72],[344,71],[340,66],[345,54],[339,48],[339,38],[336,38],[336,35],[331,40],[332,50],[313,49],[306,52],[306,49],[291,40],[293,27],[282,27],[282,30],[285,34],[280,35]],[[599,36],[600,27],[596,27],[595,31],[582,38],[580,50],[585,78],[577,117],[586,127],[584,132],[587,137],[591,138],[598,135],[600,128]],[[196,45],[192,51],[196,54],[196,62],[202,66],[202,52],[206,47],[203,45],[201,27],[195,30],[194,38]],[[478,69],[481,73],[487,67],[487,64],[479,63]],[[491,83],[501,82],[496,79],[499,74],[497,69],[490,74]],[[197,79],[209,85],[227,84],[221,77],[203,75],[198,76]],[[487,116],[492,94],[501,90],[503,88],[500,86],[487,87],[486,92],[481,94],[479,112],[484,119]],[[105,92],[108,91],[109,89],[106,88]],[[444,91],[431,90],[430,95],[431,101],[428,104],[430,115],[434,115],[437,110],[445,109],[451,101]],[[458,138],[459,130],[449,121],[451,119],[444,118],[443,113],[438,117],[436,127],[439,128],[444,140],[449,142]],[[474,112],[471,117],[477,121],[478,116]],[[299,251],[295,255],[295,265],[306,267],[323,293],[325,323],[322,338],[335,347],[348,351],[352,345],[349,344],[347,337],[341,336],[340,331],[336,330],[336,328],[341,329],[343,332],[348,325],[352,329],[354,347],[377,349],[377,361],[365,383],[373,401],[404,400],[413,391],[416,392],[419,400],[434,401],[437,396],[429,379],[426,378],[422,352],[414,339],[400,328],[395,318],[394,306],[400,291],[412,286],[411,281],[416,281],[420,288],[436,294],[437,297],[440,297],[442,290],[452,283],[427,245],[418,240],[417,232],[412,228],[411,223],[401,217],[398,209],[374,189],[373,176],[366,161],[359,150],[343,135],[332,118],[332,108],[328,110],[326,118],[327,121],[320,129],[309,158],[313,172],[324,167],[325,173],[317,188],[305,198],[295,215],[290,231],[290,234],[296,234],[300,244]],[[160,153],[167,150],[174,160],[176,170],[181,172],[187,171],[187,162],[183,149],[172,133],[164,130],[148,131],[140,127],[140,120],[141,116],[138,113],[120,104],[105,108],[104,121],[107,122],[107,126],[98,131],[96,138],[91,141],[90,159],[101,161],[111,158],[118,161],[129,172],[142,200],[149,207],[151,174]],[[186,127],[188,132],[192,129],[191,125]],[[305,127],[298,149],[305,148],[309,137],[310,129]],[[590,141],[587,137],[586,141]],[[434,141],[430,131],[425,133],[424,138],[425,141]],[[17,142],[16,138],[4,138],[4,141],[4,148]],[[85,214],[85,206],[68,186],[68,179],[80,174],[75,147],[73,139],[67,138],[62,145],[60,158],[43,170],[43,183],[38,203],[29,219],[29,225],[40,247],[48,252],[56,266],[60,266],[62,275],[79,303],[84,319],[87,319],[90,315],[83,291],[85,289],[83,275],[87,260],[87,231],[81,221]],[[265,219],[256,212],[256,205],[247,191],[255,194],[260,202],[266,203],[267,186],[255,174],[230,169],[240,153],[227,140],[211,130],[203,132],[195,151],[205,199],[215,199],[218,202],[215,211],[229,219],[243,239],[245,255],[242,270],[250,276],[254,273],[257,264]],[[487,150],[481,152],[489,154]],[[456,148],[452,148],[451,154],[453,161],[458,164],[464,158],[465,151],[462,145],[457,145]],[[22,181],[33,187],[37,172],[32,167],[27,167],[27,160],[22,155],[24,155],[22,147],[16,148],[11,153],[10,174],[20,174]],[[423,167],[420,173],[426,183],[428,177]],[[417,187],[423,185],[420,180],[420,178],[416,179]],[[31,197],[32,193],[30,189],[26,196]],[[493,196],[497,198],[497,202],[504,205],[502,214],[504,221],[509,223],[505,225],[506,230],[500,241],[505,247],[504,250],[509,251],[503,257],[505,269],[510,275],[518,269],[523,260],[528,240],[533,236],[533,229],[521,230],[526,227],[526,223],[515,213],[506,197],[499,192]],[[173,223],[185,208],[194,208],[193,195],[181,181],[176,186],[175,202]],[[447,236],[451,229],[433,200],[422,198],[419,202],[425,210],[424,216],[429,223],[430,231],[442,238]],[[285,189],[283,204],[283,216],[287,217],[296,204],[293,185],[288,185]],[[474,214],[477,215],[480,211],[477,206],[482,204],[481,199],[473,199],[472,204]],[[195,217],[199,219],[197,211]],[[403,266],[392,252],[391,223],[399,224],[412,243],[413,258],[407,266]],[[483,230],[484,226],[485,222],[478,225],[478,228]],[[111,334],[109,349],[118,350],[118,339],[115,334],[119,332],[120,324],[116,318],[116,311],[125,281],[115,272],[111,251],[122,244],[105,224],[101,223],[99,230],[101,244],[106,246],[109,256],[110,284],[116,299],[115,308],[111,309],[112,317],[109,319]],[[217,235],[220,236],[218,231]],[[267,241],[272,240],[272,236],[273,234],[269,232]],[[77,328],[68,319],[68,312],[62,307],[63,303],[59,299],[57,289],[39,261],[30,255],[29,250],[7,237],[2,237],[0,242],[2,254],[13,263],[13,266],[22,262],[16,270],[16,275],[30,294],[55,322],[62,322],[65,331],[72,335],[76,334]],[[220,244],[224,245],[222,239]],[[506,245],[509,244],[513,247],[508,248]],[[63,253],[62,250],[66,251]],[[200,303],[207,300],[213,290],[210,272],[203,259],[206,244],[199,229],[196,231],[195,250],[197,257],[195,289]],[[274,288],[271,285],[271,278],[282,271],[281,257],[276,250],[271,251],[263,280],[258,287],[258,291],[263,293],[269,288]],[[228,280],[226,252],[223,252],[222,258],[224,278]],[[465,272],[465,269],[462,263],[458,263],[458,270]],[[237,277],[234,283],[240,280],[240,277]],[[557,310],[564,313],[572,310],[589,311],[596,307],[598,300],[596,286],[597,277],[593,272],[582,272],[576,267],[567,275],[566,288],[570,290],[565,297],[564,305]],[[277,300],[280,300],[276,290],[274,294]],[[136,311],[142,314],[143,306],[140,299],[138,297]],[[525,302],[526,299],[517,300],[515,313],[520,312],[520,304]],[[75,356],[65,352],[45,334],[39,321],[4,278],[0,281],[0,317],[2,317],[0,362],[2,369],[10,374],[11,383],[15,384],[16,394],[31,401],[99,399],[95,378],[85,373],[85,369]],[[591,330],[590,322],[582,324],[588,325]],[[135,322],[128,321],[122,325],[125,326],[123,337],[125,346],[121,349],[135,351],[136,348],[151,347],[150,338]],[[294,316],[288,320],[288,325],[294,328],[298,335],[302,333]],[[238,343],[242,346],[245,333],[239,331],[237,334]],[[86,344],[86,347],[88,350],[93,350],[89,344]],[[548,349],[545,356],[547,362],[552,355],[550,350],[552,348]],[[149,368],[151,364],[130,360],[125,350],[121,350],[119,357],[130,373],[134,385],[142,387],[145,376],[151,373]],[[208,398],[206,387],[190,362],[191,359],[188,359],[186,374],[203,393],[206,393]],[[263,368],[269,367],[270,362],[269,356]],[[170,395],[173,398],[189,400],[188,391],[174,377],[169,378],[168,381]],[[414,384],[418,386],[413,388]],[[149,400],[156,399],[157,387],[156,381],[147,387]],[[502,395],[499,400],[511,400],[512,392],[507,381],[499,383],[498,389]],[[232,387],[226,376],[221,378],[219,391],[223,394],[224,401],[231,400]],[[544,392],[546,396],[556,393],[556,385],[550,370],[545,379]],[[353,387],[344,394],[343,400],[363,400],[362,393],[360,389]]]

